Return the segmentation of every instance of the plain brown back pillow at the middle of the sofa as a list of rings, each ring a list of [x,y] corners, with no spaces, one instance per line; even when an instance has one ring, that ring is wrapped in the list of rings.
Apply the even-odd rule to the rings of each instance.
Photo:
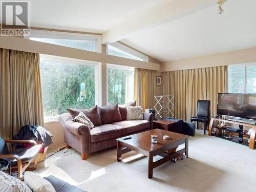
[[[122,120],[117,103],[109,106],[99,106],[99,115],[102,124],[110,124]]]

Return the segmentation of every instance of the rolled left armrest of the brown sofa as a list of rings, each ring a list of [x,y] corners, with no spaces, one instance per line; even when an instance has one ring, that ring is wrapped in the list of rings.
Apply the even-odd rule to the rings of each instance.
[[[72,120],[69,120],[64,124],[64,126],[67,131],[75,135],[82,135],[87,137],[91,136],[90,129],[83,123],[73,122]]]

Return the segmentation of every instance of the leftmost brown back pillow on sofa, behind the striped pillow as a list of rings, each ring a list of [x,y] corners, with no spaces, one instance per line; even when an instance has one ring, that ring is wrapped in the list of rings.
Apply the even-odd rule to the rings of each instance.
[[[95,126],[101,125],[101,120],[99,117],[99,112],[98,112],[98,106],[95,105],[92,108],[88,109],[67,109],[72,118],[75,118],[80,112],[83,112],[84,115],[86,115]]]

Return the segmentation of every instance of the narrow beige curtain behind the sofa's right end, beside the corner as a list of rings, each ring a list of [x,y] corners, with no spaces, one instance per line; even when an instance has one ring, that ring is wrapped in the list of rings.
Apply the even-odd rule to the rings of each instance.
[[[154,94],[156,89],[156,72],[148,69],[135,68],[134,99],[137,105],[145,109],[154,108]]]

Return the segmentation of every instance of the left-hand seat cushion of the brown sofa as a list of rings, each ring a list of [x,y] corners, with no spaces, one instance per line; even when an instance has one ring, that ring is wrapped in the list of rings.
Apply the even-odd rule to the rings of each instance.
[[[125,135],[124,127],[115,124],[104,124],[96,126],[90,132],[92,143],[117,138]]]

